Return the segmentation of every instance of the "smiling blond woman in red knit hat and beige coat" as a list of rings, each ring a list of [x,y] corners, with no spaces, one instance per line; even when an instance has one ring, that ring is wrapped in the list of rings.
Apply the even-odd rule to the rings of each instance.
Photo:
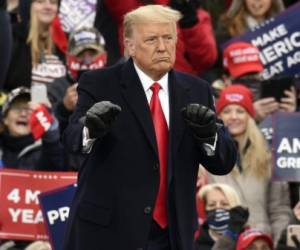
[[[271,180],[271,154],[254,121],[251,91],[239,84],[225,88],[216,110],[237,143],[239,157],[230,174],[208,174],[208,182],[233,187],[249,208],[250,226],[272,233],[276,241],[291,215],[289,189],[287,183]]]

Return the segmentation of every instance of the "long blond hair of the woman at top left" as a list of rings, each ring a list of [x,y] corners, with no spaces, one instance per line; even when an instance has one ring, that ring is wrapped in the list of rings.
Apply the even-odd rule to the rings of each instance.
[[[27,37],[27,43],[31,47],[31,61],[32,65],[36,66],[40,63],[43,53],[52,54],[54,49],[53,40],[50,33],[50,28],[41,27],[37,14],[33,11],[32,5],[30,10],[30,27]]]

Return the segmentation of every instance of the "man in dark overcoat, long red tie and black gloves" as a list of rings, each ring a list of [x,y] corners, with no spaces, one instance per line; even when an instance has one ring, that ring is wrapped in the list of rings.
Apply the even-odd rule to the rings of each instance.
[[[191,250],[199,163],[229,173],[236,150],[208,83],[173,70],[180,13],[146,5],[124,17],[129,59],[80,78],[64,133],[85,152],[64,250]]]

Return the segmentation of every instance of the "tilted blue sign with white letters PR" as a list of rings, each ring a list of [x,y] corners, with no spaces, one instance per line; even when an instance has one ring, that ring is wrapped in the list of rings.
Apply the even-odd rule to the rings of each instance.
[[[40,206],[53,250],[62,249],[66,220],[69,216],[75,190],[76,184],[72,184],[39,195]]]

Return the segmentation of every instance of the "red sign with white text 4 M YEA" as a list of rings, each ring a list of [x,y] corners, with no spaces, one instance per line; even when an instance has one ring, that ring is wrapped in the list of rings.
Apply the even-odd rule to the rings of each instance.
[[[75,172],[1,169],[0,239],[48,239],[38,195],[76,180]]]

